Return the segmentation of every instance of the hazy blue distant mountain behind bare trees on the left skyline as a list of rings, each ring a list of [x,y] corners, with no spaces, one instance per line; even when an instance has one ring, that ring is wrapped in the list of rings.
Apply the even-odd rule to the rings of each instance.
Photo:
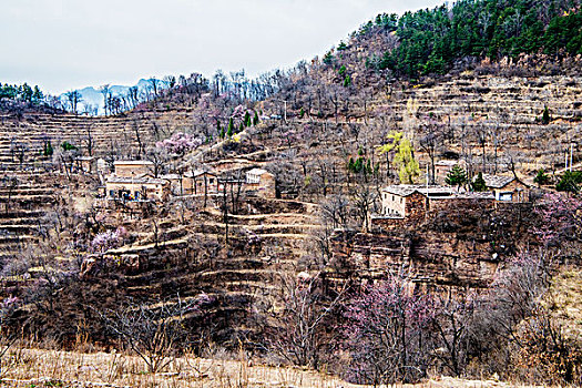
[[[167,83],[163,80],[157,80],[160,83],[160,89],[165,89],[167,86]],[[133,86],[137,86],[137,96],[141,100],[145,100],[147,93],[151,93],[151,82],[150,80],[141,79],[137,81],[135,85],[111,85],[110,86],[110,93],[112,96],[126,96],[130,89]],[[81,93],[81,102],[78,105],[78,111],[80,113],[82,112],[90,112],[91,114],[104,114],[104,103],[103,103],[103,94],[100,92],[100,86],[86,86],[83,89],[76,90],[79,93]],[[59,99],[67,104],[67,96],[65,93],[59,95]],[[96,111],[95,111],[96,110]]]

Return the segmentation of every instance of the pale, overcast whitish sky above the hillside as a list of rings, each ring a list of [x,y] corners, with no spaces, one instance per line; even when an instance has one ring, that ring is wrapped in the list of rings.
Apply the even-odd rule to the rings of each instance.
[[[381,12],[439,0],[0,0],[0,82],[60,94],[321,55]]]

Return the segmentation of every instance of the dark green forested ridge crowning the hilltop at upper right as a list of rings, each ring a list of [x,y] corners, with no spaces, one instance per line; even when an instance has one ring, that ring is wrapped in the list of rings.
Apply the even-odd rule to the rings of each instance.
[[[341,69],[358,48],[366,50],[367,70],[410,79],[447,73],[468,58],[574,57],[582,54],[580,1],[461,0],[401,17],[378,14],[354,32],[349,43],[326,53],[323,62]]]

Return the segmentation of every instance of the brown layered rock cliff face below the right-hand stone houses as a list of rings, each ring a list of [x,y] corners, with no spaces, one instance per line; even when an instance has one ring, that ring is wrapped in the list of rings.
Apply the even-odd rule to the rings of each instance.
[[[533,213],[530,204],[466,207],[441,206],[420,223],[404,219],[371,233],[336,231],[333,277],[369,282],[404,272],[422,289],[488,287],[508,257],[534,244],[528,231]]]

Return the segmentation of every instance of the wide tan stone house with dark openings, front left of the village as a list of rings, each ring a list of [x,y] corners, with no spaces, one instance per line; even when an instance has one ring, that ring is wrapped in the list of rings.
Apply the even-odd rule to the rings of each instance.
[[[111,175],[105,181],[108,200],[118,201],[165,201],[171,192],[170,181],[142,176]]]

